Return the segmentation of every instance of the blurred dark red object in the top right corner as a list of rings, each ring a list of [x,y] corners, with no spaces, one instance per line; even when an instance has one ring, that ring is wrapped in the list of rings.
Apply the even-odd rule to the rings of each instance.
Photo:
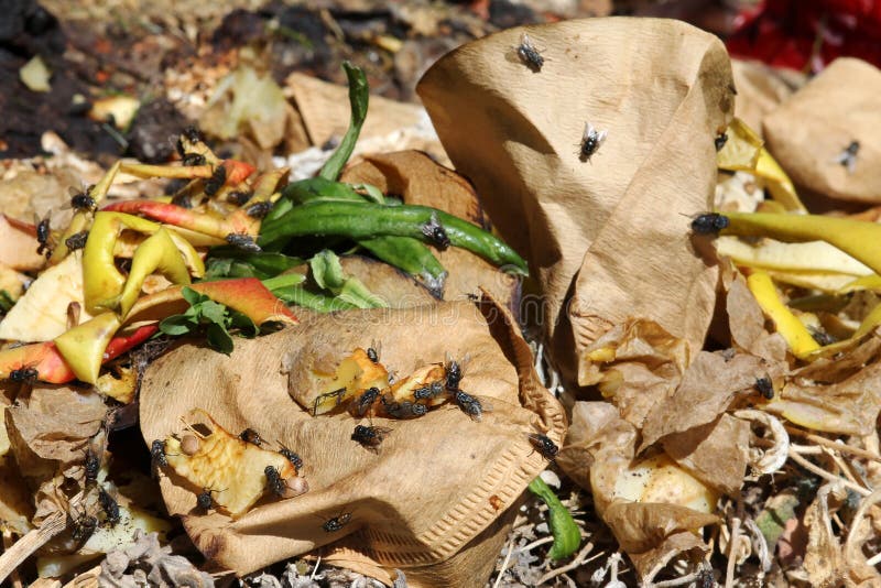
[[[765,0],[737,17],[726,44],[732,56],[808,73],[845,56],[881,67],[881,0]]]

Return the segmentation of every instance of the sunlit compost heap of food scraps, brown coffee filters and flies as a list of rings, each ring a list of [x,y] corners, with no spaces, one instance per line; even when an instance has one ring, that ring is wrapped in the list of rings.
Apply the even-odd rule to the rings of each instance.
[[[878,69],[514,28],[422,76],[435,137],[269,54],[4,163],[0,578],[879,581]]]

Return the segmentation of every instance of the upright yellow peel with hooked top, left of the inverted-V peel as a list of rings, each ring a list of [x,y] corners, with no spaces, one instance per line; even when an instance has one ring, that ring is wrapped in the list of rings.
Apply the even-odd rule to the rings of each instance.
[[[97,213],[83,251],[83,296],[86,311],[97,315],[113,311],[126,276],[113,264],[113,246],[123,228],[152,233],[160,225],[132,215]]]

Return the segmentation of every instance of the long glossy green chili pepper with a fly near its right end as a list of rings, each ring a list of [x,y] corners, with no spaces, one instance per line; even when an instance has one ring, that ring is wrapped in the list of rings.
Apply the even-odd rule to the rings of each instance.
[[[339,235],[351,239],[379,236],[427,239],[423,227],[432,216],[446,230],[452,244],[477,253],[497,265],[511,265],[526,275],[526,262],[500,239],[453,215],[427,206],[381,206],[369,203],[316,202],[296,206],[261,228],[260,246],[303,235]]]

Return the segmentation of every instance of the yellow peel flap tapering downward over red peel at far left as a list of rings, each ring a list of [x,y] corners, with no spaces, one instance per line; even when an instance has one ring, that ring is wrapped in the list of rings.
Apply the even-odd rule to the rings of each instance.
[[[104,353],[121,325],[116,313],[102,313],[55,339],[55,346],[78,380],[94,384]]]

